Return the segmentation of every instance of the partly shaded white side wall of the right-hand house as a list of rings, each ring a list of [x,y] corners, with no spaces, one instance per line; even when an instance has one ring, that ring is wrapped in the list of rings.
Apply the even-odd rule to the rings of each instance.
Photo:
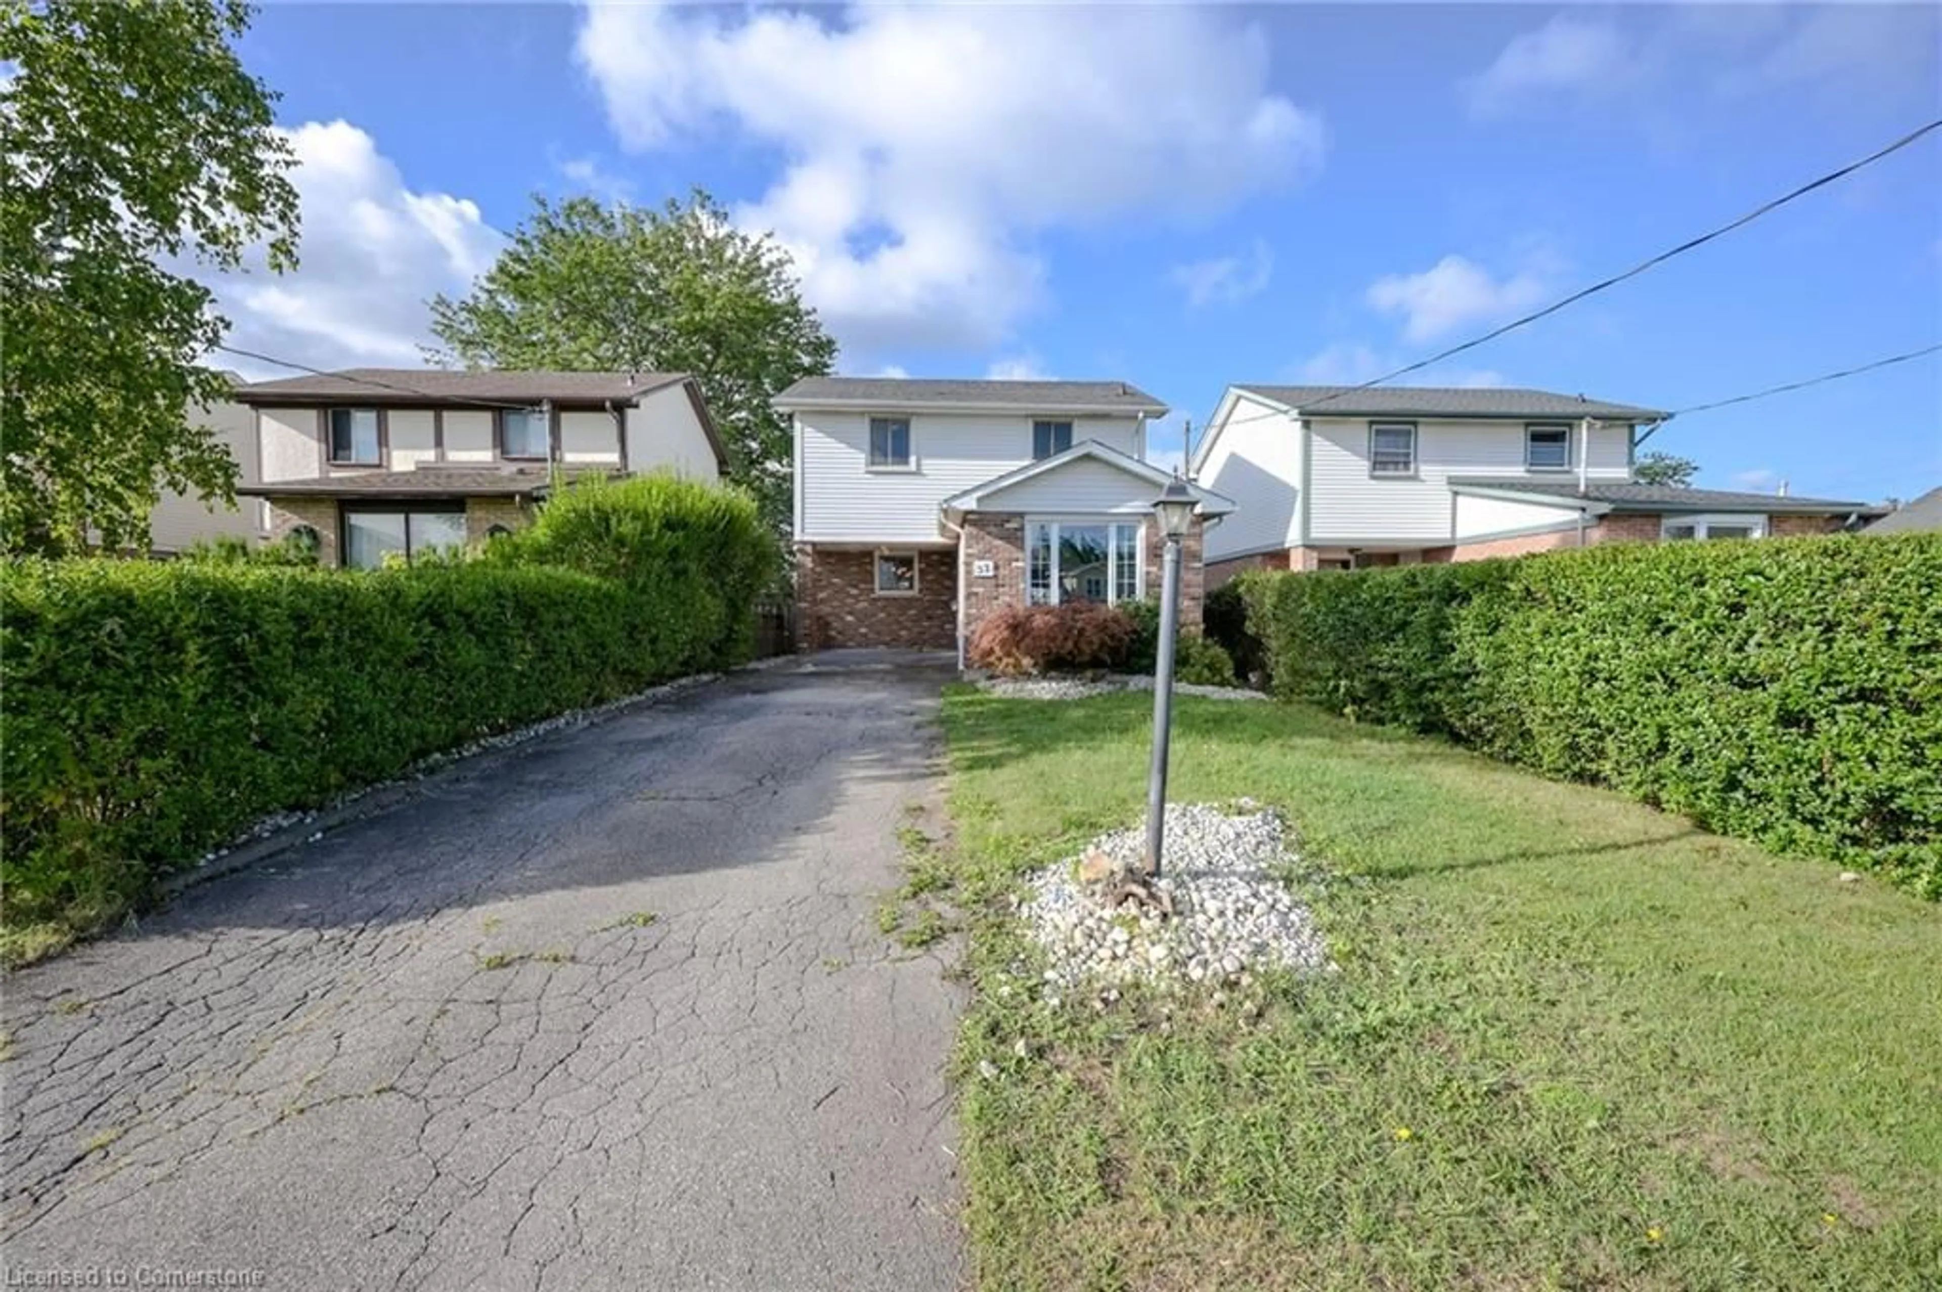
[[[1233,513],[1206,532],[1206,560],[1274,552],[1301,542],[1301,424],[1245,394],[1208,429],[1198,484],[1233,499]]]

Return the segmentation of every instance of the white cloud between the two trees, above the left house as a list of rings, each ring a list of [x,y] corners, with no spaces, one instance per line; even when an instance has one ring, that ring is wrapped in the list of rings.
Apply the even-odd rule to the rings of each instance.
[[[480,208],[445,192],[414,192],[357,126],[332,120],[287,130],[297,153],[299,268],[206,278],[233,323],[229,344],[311,367],[416,367],[431,340],[425,301],[464,291],[505,239]],[[249,377],[291,369],[218,354]]]

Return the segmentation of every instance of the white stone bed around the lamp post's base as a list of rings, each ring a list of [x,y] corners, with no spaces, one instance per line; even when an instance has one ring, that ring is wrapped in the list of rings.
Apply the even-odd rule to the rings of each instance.
[[[1144,826],[1119,830],[1095,839],[1084,861],[1066,859],[1027,880],[1020,913],[1045,948],[1051,1001],[1091,989],[1111,1003],[1128,983],[1220,987],[1260,969],[1328,968],[1307,905],[1278,878],[1297,857],[1274,812],[1167,806],[1165,874],[1144,886],[1171,915],[1136,900],[1109,905],[1128,872],[1138,880],[1144,849]],[[1082,878],[1105,859],[1117,863],[1113,880]]]

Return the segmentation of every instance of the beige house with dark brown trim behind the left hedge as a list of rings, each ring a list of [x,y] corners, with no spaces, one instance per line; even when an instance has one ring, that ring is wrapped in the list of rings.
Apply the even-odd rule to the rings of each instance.
[[[237,387],[254,422],[260,532],[311,538],[324,565],[480,544],[526,525],[555,480],[728,459],[686,373],[353,367]]]

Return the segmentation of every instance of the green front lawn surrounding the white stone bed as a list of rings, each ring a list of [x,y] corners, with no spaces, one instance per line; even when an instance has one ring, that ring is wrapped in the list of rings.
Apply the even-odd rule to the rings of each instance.
[[[1150,699],[946,697],[983,1288],[1938,1288],[1942,907],[1616,795],[1185,699],[1342,971],[1049,1008],[998,896],[1132,824]],[[981,1076],[981,1061],[996,1076]]]

